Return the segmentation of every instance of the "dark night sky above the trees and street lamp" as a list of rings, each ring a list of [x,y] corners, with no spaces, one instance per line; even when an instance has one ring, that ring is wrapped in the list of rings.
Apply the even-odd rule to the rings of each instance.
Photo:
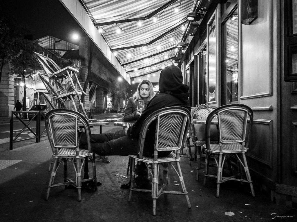
[[[72,35],[85,35],[58,0],[8,0],[0,6],[29,28],[34,40],[51,35],[77,44]]]

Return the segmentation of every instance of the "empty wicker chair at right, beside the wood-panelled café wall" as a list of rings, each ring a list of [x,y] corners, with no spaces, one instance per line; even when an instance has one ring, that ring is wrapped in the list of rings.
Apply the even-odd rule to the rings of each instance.
[[[210,143],[210,126],[211,120],[217,116],[219,129],[219,144]],[[249,117],[249,122],[248,122]],[[247,182],[250,185],[252,196],[255,197],[254,188],[247,166],[245,152],[248,150],[249,131],[253,123],[253,111],[243,104],[231,104],[221,106],[210,113],[206,120],[206,161],[205,161],[205,177],[203,185],[206,184],[207,177],[217,178],[217,197],[219,197],[220,184],[235,180]],[[210,153],[218,155],[216,160],[217,174],[211,175],[208,170],[208,158]],[[238,173],[225,177],[222,176],[223,166],[226,155],[234,155],[239,163],[243,166],[246,178],[243,178],[244,173],[242,168],[238,168]],[[239,155],[239,156],[238,156]],[[241,156],[241,158],[240,158]],[[240,177],[240,178],[238,178]]]

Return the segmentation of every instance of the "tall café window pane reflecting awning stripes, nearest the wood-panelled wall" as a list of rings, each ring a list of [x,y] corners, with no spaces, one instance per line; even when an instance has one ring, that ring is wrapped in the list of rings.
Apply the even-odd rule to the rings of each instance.
[[[238,10],[235,9],[222,25],[222,103],[238,103]],[[225,101],[225,102],[224,102]]]

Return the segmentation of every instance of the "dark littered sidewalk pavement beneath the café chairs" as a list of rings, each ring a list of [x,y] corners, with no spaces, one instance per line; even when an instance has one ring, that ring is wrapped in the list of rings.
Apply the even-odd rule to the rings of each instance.
[[[103,132],[116,131],[112,123]],[[98,190],[88,193],[82,190],[82,201],[77,201],[75,189],[54,187],[49,200],[45,200],[51,172],[48,171],[51,149],[47,137],[40,143],[23,141],[16,143],[13,150],[9,144],[0,147],[0,222],[10,221],[296,221],[297,213],[288,207],[274,204],[255,187],[255,197],[250,194],[248,184],[235,181],[223,183],[220,197],[216,198],[216,183],[208,179],[203,183],[203,170],[200,181],[196,181],[196,163],[182,158],[180,161],[184,182],[192,205],[187,208],[184,196],[162,195],[157,200],[157,215],[152,215],[150,193],[133,193],[128,202],[129,190],[120,189],[128,182],[126,175],[127,157],[109,156],[110,163],[96,162],[97,179],[102,182]],[[90,165],[89,165],[90,167]],[[68,164],[69,177],[74,174]],[[57,172],[62,179],[63,167]],[[180,189],[178,178],[170,173],[168,188]],[[226,214],[232,212],[233,216]],[[295,214],[294,214],[295,213]],[[294,218],[275,218],[293,215]],[[275,219],[273,219],[275,218]]]

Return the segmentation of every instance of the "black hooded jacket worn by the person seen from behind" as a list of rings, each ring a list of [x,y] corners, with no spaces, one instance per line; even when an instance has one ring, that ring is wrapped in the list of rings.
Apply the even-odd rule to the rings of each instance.
[[[139,133],[144,120],[153,112],[170,106],[185,107],[191,111],[189,104],[189,86],[184,85],[183,75],[181,70],[174,65],[167,66],[162,69],[159,78],[159,94],[154,96],[153,99],[147,104],[146,110],[143,111],[135,124],[128,129],[127,134],[129,137],[138,140]],[[151,123],[146,134],[146,145],[144,153],[153,155],[154,141],[155,141],[156,123]],[[168,155],[167,151],[159,152],[158,157]]]

